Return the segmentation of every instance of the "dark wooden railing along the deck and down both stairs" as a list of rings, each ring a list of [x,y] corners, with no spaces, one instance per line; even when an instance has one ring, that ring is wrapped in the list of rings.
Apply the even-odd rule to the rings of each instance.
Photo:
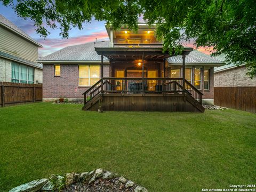
[[[185,90],[183,90],[182,80],[182,78],[104,77],[83,93],[84,103],[99,93],[187,93],[202,105],[203,94],[187,80],[185,80]]]

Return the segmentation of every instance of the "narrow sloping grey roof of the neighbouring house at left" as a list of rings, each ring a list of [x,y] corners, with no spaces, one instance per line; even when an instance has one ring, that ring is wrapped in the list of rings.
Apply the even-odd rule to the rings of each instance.
[[[5,26],[7,28],[11,28],[15,33],[18,35],[21,35],[22,37],[25,37],[30,42],[33,42],[34,44],[37,44],[39,47],[43,47],[39,43],[35,41],[35,39],[31,38],[28,34],[26,34],[23,30],[21,30],[19,27],[15,26],[14,23],[6,19],[2,14],[0,14],[0,25]]]

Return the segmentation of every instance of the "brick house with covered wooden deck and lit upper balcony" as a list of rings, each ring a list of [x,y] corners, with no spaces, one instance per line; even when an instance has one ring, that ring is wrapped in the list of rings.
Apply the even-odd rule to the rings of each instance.
[[[99,100],[95,98],[100,93],[107,93],[103,94],[104,98],[122,93],[126,96],[123,97],[125,100],[115,98],[115,102],[111,102],[114,97],[108,101],[103,99],[104,109],[191,111],[195,106],[201,106],[202,92],[204,99],[213,99],[213,67],[223,65],[221,61],[188,47],[182,52],[183,56],[171,57],[173,55],[169,52],[163,52],[162,43],[155,38],[155,26],[141,23],[136,34],[124,27],[112,30],[106,26],[106,29],[110,41],[65,47],[38,61],[43,63],[44,68],[45,101],[60,97],[83,98],[87,103],[84,109],[95,110],[93,105]],[[186,66],[182,62],[185,57]],[[183,68],[186,68],[186,80],[182,78]],[[141,93],[142,98],[139,97]],[[144,95],[151,99],[150,102],[157,100],[145,108]],[[164,103],[165,99],[159,97],[168,98],[166,95],[177,98]],[[132,101],[134,98],[129,100],[129,97],[135,96],[137,104]],[[188,106],[186,99],[194,107]],[[158,102],[162,103],[158,106]],[[126,103],[123,108],[121,103]]]

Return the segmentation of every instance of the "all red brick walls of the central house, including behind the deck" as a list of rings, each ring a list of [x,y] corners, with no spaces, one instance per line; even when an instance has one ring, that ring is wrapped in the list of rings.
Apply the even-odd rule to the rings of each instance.
[[[100,65],[100,63],[95,64]],[[103,75],[109,77],[109,64],[104,65]],[[115,69],[119,70],[140,70],[134,63],[111,63],[111,76],[115,76]],[[151,62],[147,63],[145,70],[158,70],[158,77],[161,77],[163,71],[163,63]],[[165,77],[170,77],[170,67],[165,69]],[[192,69],[194,79],[194,68]],[[100,73],[101,74],[101,73]],[[182,70],[181,70],[182,74]],[[204,87],[204,73],[202,69],[202,87]],[[146,75],[146,74],[145,74]],[[204,99],[213,99],[214,94],[214,76],[213,68],[210,69],[210,90],[202,90]],[[182,76],[182,75],[181,75]],[[127,71],[127,77],[141,77],[140,72]],[[194,84],[194,81],[193,81]],[[43,65],[43,98],[44,100],[53,98],[83,98],[83,93],[90,87],[78,86],[78,64],[62,64],[60,65],[60,77],[54,77],[54,65]]]

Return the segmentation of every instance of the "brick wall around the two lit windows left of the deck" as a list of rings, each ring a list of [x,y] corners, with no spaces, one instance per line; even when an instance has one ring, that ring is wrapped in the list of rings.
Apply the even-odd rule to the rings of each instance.
[[[103,75],[109,77],[109,65],[104,65]],[[100,70],[101,71],[101,70]],[[101,74],[101,72],[100,72]],[[60,65],[60,77],[54,77],[54,65],[43,65],[43,98],[83,98],[83,93],[90,87],[78,86],[78,65]]]

